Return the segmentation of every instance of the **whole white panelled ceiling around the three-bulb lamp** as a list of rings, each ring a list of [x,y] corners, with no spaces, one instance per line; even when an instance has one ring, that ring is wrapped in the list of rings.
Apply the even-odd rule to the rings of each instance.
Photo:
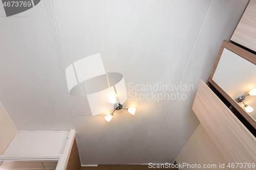
[[[199,125],[191,110],[222,40],[247,0],[41,1],[6,17],[0,6],[0,101],[18,130],[77,130],[82,165],[172,163]],[[135,85],[193,85],[186,100],[131,99],[135,115],[92,116],[69,94],[65,69],[100,53],[106,72]],[[132,85],[129,83],[133,83]],[[137,91],[146,95],[164,91]],[[131,94],[131,93],[130,93]],[[133,95],[135,97],[135,95]]]

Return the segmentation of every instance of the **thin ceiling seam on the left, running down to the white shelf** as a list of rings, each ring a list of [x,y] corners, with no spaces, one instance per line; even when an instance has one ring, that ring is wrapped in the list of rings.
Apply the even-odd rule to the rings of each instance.
[[[59,48],[60,48],[60,55],[61,55],[62,64],[63,64],[63,66],[64,66],[64,72],[65,72],[66,66],[65,66],[65,63],[64,63],[64,59],[63,59],[62,48],[61,48],[61,44],[60,44],[59,32],[58,32],[58,27],[57,27],[57,22],[56,22],[56,18],[55,18],[55,13],[54,13],[54,8],[53,8],[52,0],[51,0],[51,6],[52,6],[53,19],[54,19],[54,23],[55,23],[55,27],[56,27],[56,33],[57,33],[57,38],[58,38],[58,43],[59,43]],[[65,75],[66,75],[66,74],[65,74]],[[66,87],[67,87],[67,89],[68,89],[68,86],[66,86]],[[70,101],[71,101],[73,120],[74,120],[74,123],[75,123],[75,130],[76,130],[76,134],[77,134],[77,127],[76,127],[76,119],[75,119],[75,113],[74,113],[74,106],[73,106],[73,102],[72,102],[72,99],[71,99],[71,95],[69,95],[69,96],[70,96]],[[78,152],[79,152],[80,162],[81,162],[81,164],[83,164],[82,159],[81,159],[81,150],[80,150],[78,135],[76,135],[76,137],[77,137],[76,143],[77,143],[77,148],[78,148]]]

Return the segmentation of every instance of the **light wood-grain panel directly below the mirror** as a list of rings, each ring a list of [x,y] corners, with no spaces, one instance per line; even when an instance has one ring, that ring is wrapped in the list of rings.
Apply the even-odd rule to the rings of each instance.
[[[256,138],[202,80],[193,110],[227,163],[256,162]]]

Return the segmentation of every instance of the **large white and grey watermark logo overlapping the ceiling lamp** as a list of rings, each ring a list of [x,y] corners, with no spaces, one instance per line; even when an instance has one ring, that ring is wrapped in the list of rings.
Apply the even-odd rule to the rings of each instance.
[[[66,68],[66,79],[70,95],[86,97],[93,116],[113,110],[117,101],[127,100],[123,75],[106,72],[100,54],[70,64]]]

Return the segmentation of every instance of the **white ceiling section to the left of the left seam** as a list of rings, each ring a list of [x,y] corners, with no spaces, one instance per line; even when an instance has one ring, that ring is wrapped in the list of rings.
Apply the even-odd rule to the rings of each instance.
[[[76,129],[47,2],[10,17],[0,5],[0,101],[18,130]]]

